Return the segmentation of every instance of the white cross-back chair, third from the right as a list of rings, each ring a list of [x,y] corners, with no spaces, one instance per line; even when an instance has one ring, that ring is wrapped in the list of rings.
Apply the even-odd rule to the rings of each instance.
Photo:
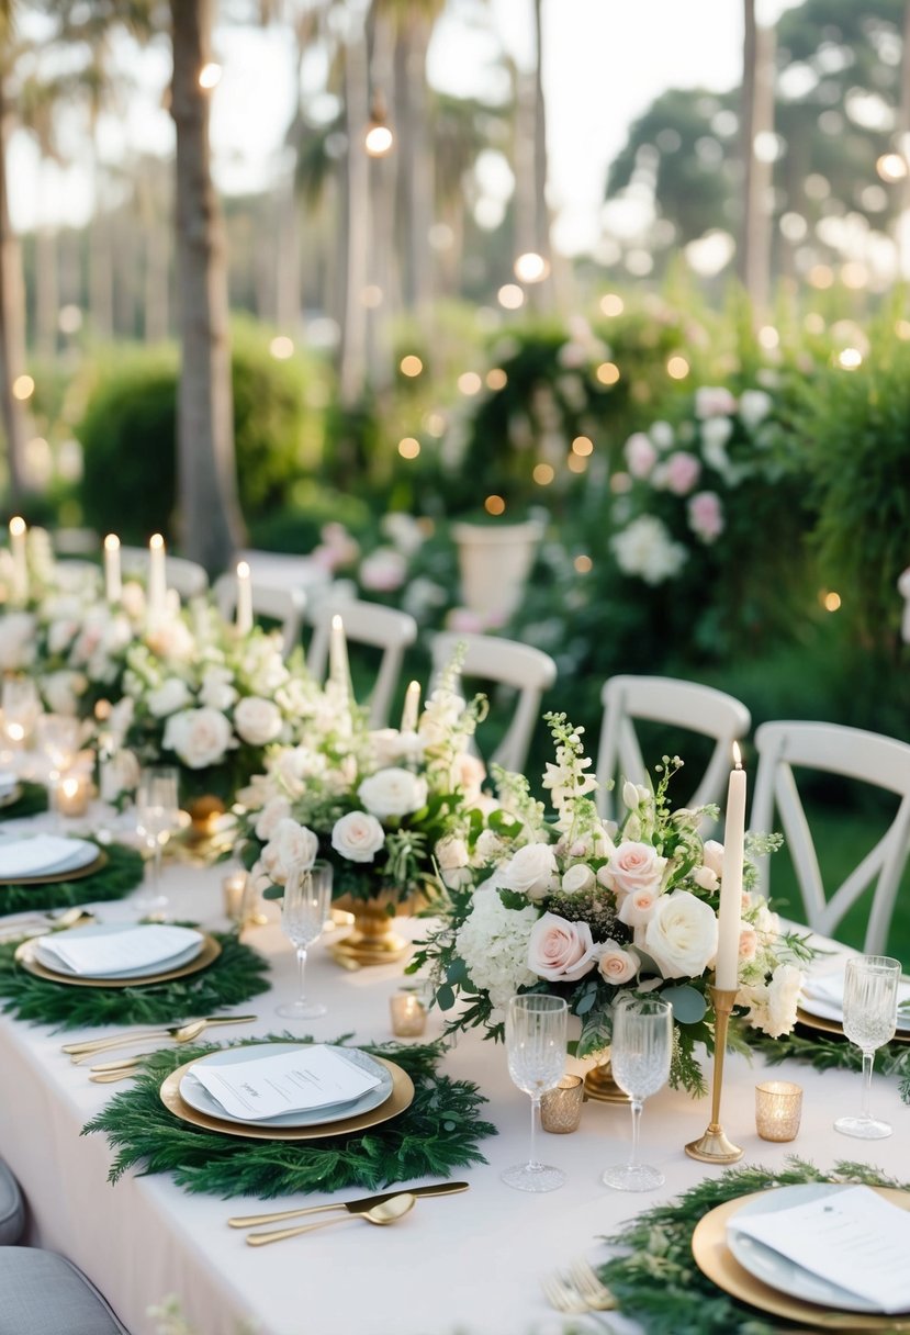
[[[491,765],[502,765],[503,769],[520,773],[527,760],[534,728],[540,717],[540,698],[556,680],[556,665],[550,654],[515,639],[443,631],[432,641],[435,674],[448,666],[459,645],[464,646],[462,677],[495,682],[506,688],[507,694],[514,693],[512,720],[488,761]],[[491,701],[494,709],[499,704],[498,698]]]

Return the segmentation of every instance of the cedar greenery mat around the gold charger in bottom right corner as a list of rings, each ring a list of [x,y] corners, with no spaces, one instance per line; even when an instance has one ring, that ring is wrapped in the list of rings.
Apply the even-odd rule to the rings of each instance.
[[[861,1163],[842,1161],[831,1172],[822,1172],[806,1160],[790,1157],[778,1172],[758,1165],[730,1168],[638,1215],[620,1234],[604,1239],[622,1247],[624,1255],[598,1266],[598,1275],[614,1292],[622,1314],[639,1322],[646,1335],[775,1335],[785,1327],[793,1330],[793,1322],[759,1315],[707,1279],[693,1260],[693,1232],[709,1210],[727,1200],[810,1181],[907,1189],[906,1183]]]

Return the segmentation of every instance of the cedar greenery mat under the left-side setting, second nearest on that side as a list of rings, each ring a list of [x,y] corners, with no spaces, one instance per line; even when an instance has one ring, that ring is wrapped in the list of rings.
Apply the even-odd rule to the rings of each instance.
[[[85,988],[39,979],[15,961],[17,943],[0,945],[3,1009],[19,1020],[81,1029],[96,1024],[177,1024],[223,1011],[268,989],[268,963],[236,936],[213,932],[219,957],[199,973],[133,988]],[[181,1049],[183,1051],[183,1049]]]

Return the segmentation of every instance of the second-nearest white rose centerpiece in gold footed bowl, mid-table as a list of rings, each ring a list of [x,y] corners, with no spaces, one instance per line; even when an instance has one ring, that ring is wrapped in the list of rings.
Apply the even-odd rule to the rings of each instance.
[[[452,830],[480,794],[484,769],[468,745],[486,704],[466,704],[456,670],[444,674],[412,726],[379,732],[368,732],[363,712],[330,682],[328,726],[272,748],[266,773],[239,793],[246,861],[268,882],[266,897],[282,896],[292,862],[327,858],[334,897],[347,897],[359,917],[366,956],[396,949],[380,944],[388,943],[390,916],[427,890],[446,865]]]

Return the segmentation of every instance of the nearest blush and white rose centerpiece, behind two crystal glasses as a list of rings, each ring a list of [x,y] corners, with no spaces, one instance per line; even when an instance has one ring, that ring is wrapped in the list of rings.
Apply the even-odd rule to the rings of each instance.
[[[592,793],[582,732],[547,714],[556,745],[543,786],[555,817],[518,774],[496,772],[499,805],[464,824],[448,857],[446,889],[432,910],[443,918],[411,968],[431,965],[444,1011],[464,1003],[450,1032],[482,1025],[503,1032],[506,1003],[518,992],[555,992],[580,1019],[575,1052],[610,1045],[612,1003],[624,991],[659,992],[671,1003],[676,1041],[671,1080],[705,1089],[697,1043],[713,1051],[709,988],[718,948],[722,845],[698,826],[715,808],[672,810],[668,788],[682,761],[664,757],[655,788],[627,782],[619,829],[603,822]],[[743,870],[739,995],[746,1024],[787,1033],[797,1016],[805,941],[783,934],[767,902],[750,889],[749,854],[775,848],[751,837]],[[454,852],[454,849],[450,849]],[[735,1037],[735,1031],[734,1031]]]

